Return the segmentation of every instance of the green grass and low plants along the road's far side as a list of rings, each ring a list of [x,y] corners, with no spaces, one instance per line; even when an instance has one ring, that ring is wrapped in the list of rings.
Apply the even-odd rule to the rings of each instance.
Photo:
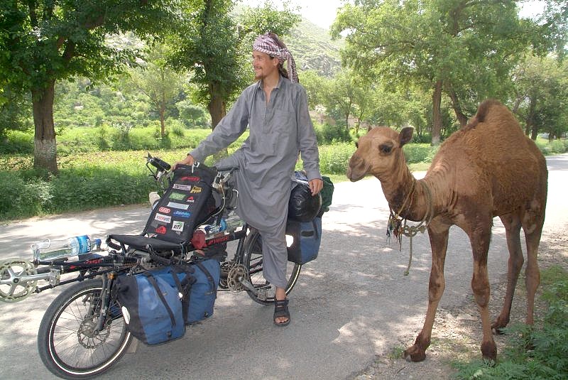
[[[33,170],[32,135],[11,132],[3,145],[6,154],[0,155],[0,219],[146,202],[148,192],[155,190],[144,166],[147,151],[174,163],[210,133],[206,129],[170,129],[165,138],[160,138],[157,125],[65,129],[57,137],[58,176]],[[227,152],[239,148],[247,136],[241,136]],[[553,143],[539,139],[537,146],[548,153],[565,148],[564,141]],[[334,183],[348,180],[346,168],[354,143],[334,142],[319,148],[322,174]],[[412,171],[427,170],[437,153],[437,147],[424,143],[407,144],[404,150]],[[213,162],[214,158],[205,161],[209,165]],[[301,167],[299,161],[297,168]]]

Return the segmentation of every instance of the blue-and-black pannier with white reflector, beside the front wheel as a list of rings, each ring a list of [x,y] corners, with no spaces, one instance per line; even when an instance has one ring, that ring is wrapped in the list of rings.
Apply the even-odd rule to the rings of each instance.
[[[192,268],[166,266],[116,278],[116,297],[131,334],[152,345],[185,334]]]

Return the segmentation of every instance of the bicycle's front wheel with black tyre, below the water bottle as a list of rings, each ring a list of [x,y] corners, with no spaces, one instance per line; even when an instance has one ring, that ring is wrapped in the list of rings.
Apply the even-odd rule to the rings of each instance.
[[[132,335],[118,303],[109,306],[109,313],[116,315],[109,317],[101,332],[89,330],[97,323],[101,291],[100,279],[76,283],[45,311],[38,332],[38,351],[45,367],[56,376],[89,379],[107,371],[126,353]],[[89,309],[94,312],[89,313]],[[89,320],[90,315],[95,319]]]

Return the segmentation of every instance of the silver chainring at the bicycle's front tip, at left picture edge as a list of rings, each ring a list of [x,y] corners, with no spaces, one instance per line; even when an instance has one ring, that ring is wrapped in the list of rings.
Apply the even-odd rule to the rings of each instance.
[[[0,261],[0,300],[18,302],[35,291],[38,281],[22,281],[22,276],[38,274],[35,266],[24,259]]]

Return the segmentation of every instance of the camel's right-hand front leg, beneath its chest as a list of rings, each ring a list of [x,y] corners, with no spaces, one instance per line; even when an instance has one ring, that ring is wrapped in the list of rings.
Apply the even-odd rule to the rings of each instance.
[[[479,306],[481,325],[483,326],[483,341],[481,342],[481,354],[484,359],[497,359],[497,346],[491,332],[491,320],[489,317],[489,276],[487,273],[487,253],[491,239],[491,220],[479,224],[472,229],[469,237],[471,249],[474,253],[474,276],[471,278],[471,289]]]

